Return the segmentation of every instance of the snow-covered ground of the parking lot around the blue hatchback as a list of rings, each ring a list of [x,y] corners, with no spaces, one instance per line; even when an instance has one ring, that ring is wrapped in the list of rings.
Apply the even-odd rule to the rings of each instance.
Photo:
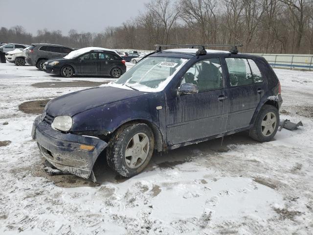
[[[30,137],[36,115],[19,105],[83,89],[54,82],[111,79],[0,64],[0,234],[312,234],[313,72],[275,72],[281,119],[304,127],[283,129],[267,143],[239,133],[155,154],[131,179],[99,163],[100,184],[93,184],[43,170]],[[50,87],[31,86],[38,82]]]

